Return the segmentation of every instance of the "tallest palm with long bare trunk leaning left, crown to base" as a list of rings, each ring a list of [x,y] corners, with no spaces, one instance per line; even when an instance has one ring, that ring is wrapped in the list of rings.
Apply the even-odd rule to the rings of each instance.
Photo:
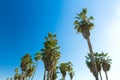
[[[93,28],[94,24],[91,22],[93,20],[93,16],[90,16],[89,18],[86,16],[87,15],[87,9],[84,8],[81,13],[77,14],[77,17],[75,17],[77,20],[75,20],[75,29],[77,30],[78,33],[82,33],[83,37],[87,40],[89,51],[90,51],[90,59],[92,62],[92,67],[93,67],[93,75],[95,76],[96,80],[98,79],[98,72],[96,68],[96,63],[94,59],[94,53],[92,50],[92,45],[90,42],[90,30]]]

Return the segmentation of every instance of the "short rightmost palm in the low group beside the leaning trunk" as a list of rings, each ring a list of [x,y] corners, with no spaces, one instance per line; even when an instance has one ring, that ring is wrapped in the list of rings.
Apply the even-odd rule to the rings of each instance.
[[[102,58],[102,67],[103,67],[103,71],[105,72],[105,75],[106,75],[106,80],[108,80],[108,75],[107,75],[107,72],[110,70],[110,67],[111,67],[111,59],[109,58],[108,53],[103,54],[103,58]]]

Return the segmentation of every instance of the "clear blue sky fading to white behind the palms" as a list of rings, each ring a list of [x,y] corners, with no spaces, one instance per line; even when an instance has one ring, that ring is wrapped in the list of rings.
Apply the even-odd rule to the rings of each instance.
[[[95,28],[91,31],[93,50],[109,53],[113,59],[109,80],[119,79],[119,4],[119,0],[1,0],[0,80],[14,75],[14,69],[19,67],[25,53],[34,56],[43,48],[48,32],[57,34],[61,46],[59,62],[73,63],[74,80],[94,80],[85,64],[84,56],[89,52],[87,42],[73,29],[74,17],[84,7],[88,9],[88,16],[95,18]],[[43,71],[40,62],[35,80],[42,80]],[[68,76],[66,80],[69,80]]]

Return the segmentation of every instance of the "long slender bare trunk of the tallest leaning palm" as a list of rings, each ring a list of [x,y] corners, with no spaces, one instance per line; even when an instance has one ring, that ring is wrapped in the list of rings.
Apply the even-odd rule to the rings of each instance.
[[[97,71],[97,68],[96,68],[96,63],[95,63],[95,59],[94,59],[94,53],[93,53],[93,50],[92,50],[92,45],[91,45],[91,42],[90,42],[90,38],[88,37],[87,39],[87,43],[88,43],[88,47],[89,47],[89,51],[90,51],[90,55],[91,55],[91,61],[92,61],[92,66],[93,66],[93,75],[95,76],[96,80],[99,80],[98,79],[98,71]]]

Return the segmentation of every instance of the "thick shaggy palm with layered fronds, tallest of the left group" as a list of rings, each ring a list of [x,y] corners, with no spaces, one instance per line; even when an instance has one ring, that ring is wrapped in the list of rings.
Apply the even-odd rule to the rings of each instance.
[[[57,45],[56,35],[52,33],[48,33],[48,37],[45,38],[44,48],[41,49],[42,52],[42,60],[44,62],[44,79],[46,79],[47,73],[47,80],[52,80],[54,70],[58,63],[58,59],[60,58],[59,48],[60,46]]]

